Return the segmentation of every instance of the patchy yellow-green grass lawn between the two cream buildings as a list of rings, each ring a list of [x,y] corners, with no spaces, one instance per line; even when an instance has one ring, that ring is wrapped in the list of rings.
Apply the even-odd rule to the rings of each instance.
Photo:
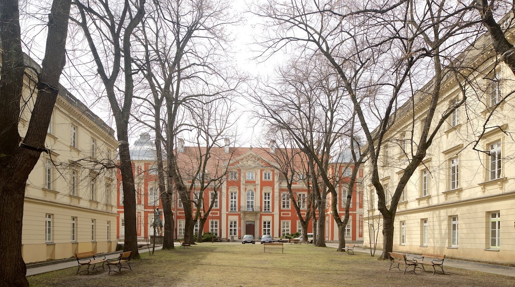
[[[188,249],[142,253],[132,271],[75,275],[77,268],[28,277],[31,286],[513,286],[513,277],[445,267],[445,275],[388,271],[389,261],[335,248],[284,245],[263,252],[261,244],[200,243]],[[106,266],[106,269],[107,266]]]

